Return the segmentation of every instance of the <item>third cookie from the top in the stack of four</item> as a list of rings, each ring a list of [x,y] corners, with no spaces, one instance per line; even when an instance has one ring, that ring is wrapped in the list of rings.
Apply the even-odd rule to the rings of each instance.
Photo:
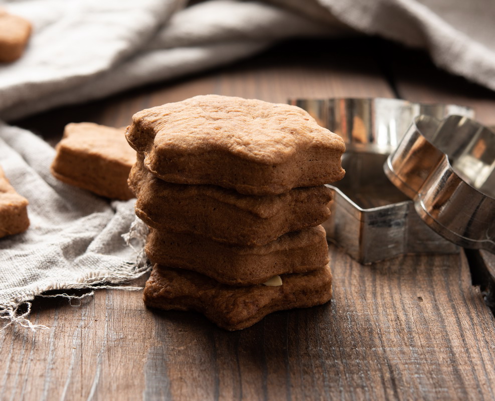
[[[321,226],[255,247],[151,229],[144,249],[152,263],[193,270],[230,285],[260,284],[278,274],[308,272],[328,263]]]

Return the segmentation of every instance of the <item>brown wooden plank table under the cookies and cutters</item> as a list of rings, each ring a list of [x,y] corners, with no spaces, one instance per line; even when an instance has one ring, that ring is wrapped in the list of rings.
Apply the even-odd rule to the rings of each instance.
[[[55,142],[70,121],[123,126],[142,108],[207,93],[457,102],[495,125],[493,92],[376,39],[289,42],[17,124]],[[141,292],[100,290],[74,306],[37,300],[31,319],[50,330],[0,332],[0,399],[495,398],[495,319],[472,285],[490,289],[480,268],[495,271],[489,254],[412,255],[372,266],[333,246],[329,256],[332,302],[274,313],[238,332],[197,313],[146,309]]]

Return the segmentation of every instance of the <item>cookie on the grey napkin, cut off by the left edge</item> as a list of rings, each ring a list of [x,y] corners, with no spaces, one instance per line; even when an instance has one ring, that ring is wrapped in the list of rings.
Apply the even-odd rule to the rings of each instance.
[[[29,227],[28,199],[16,192],[0,167],[0,238]]]

